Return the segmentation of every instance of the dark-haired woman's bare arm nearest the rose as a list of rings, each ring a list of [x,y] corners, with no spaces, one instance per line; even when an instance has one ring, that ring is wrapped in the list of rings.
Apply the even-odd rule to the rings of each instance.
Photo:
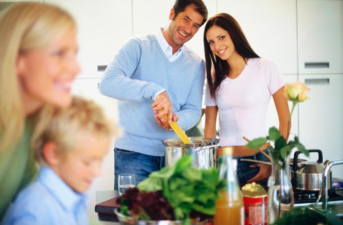
[[[279,116],[279,131],[284,138],[286,138],[286,142],[288,139],[289,132],[291,131],[291,122],[288,124],[289,119],[289,108],[287,99],[283,96],[283,87],[277,90],[273,94],[273,99],[277,111],[277,115]],[[288,125],[288,128],[287,128]]]

